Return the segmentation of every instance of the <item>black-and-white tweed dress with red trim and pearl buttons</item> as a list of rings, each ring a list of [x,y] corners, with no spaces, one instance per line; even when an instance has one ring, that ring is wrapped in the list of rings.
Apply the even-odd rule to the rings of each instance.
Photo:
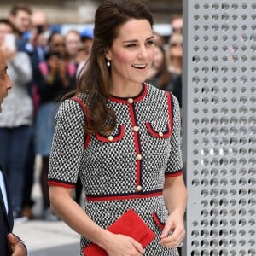
[[[85,212],[108,228],[128,209],[154,230],[156,237],[144,255],[178,255],[162,247],[160,234],[168,212],[162,196],[165,177],[182,175],[180,113],[170,92],[143,84],[133,98],[110,96],[108,107],[117,116],[113,133],[85,134],[86,95],[61,103],[49,163],[49,185],[73,188],[81,177]],[[85,102],[85,105],[84,103]],[[81,238],[83,248],[89,244]]]

